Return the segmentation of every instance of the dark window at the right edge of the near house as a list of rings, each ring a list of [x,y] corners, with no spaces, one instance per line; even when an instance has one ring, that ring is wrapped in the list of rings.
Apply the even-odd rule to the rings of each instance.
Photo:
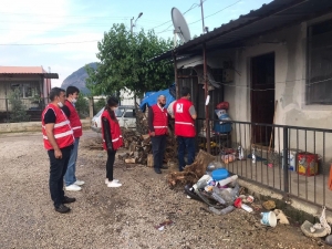
[[[332,20],[308,28],[307,104],[332,105]]]

